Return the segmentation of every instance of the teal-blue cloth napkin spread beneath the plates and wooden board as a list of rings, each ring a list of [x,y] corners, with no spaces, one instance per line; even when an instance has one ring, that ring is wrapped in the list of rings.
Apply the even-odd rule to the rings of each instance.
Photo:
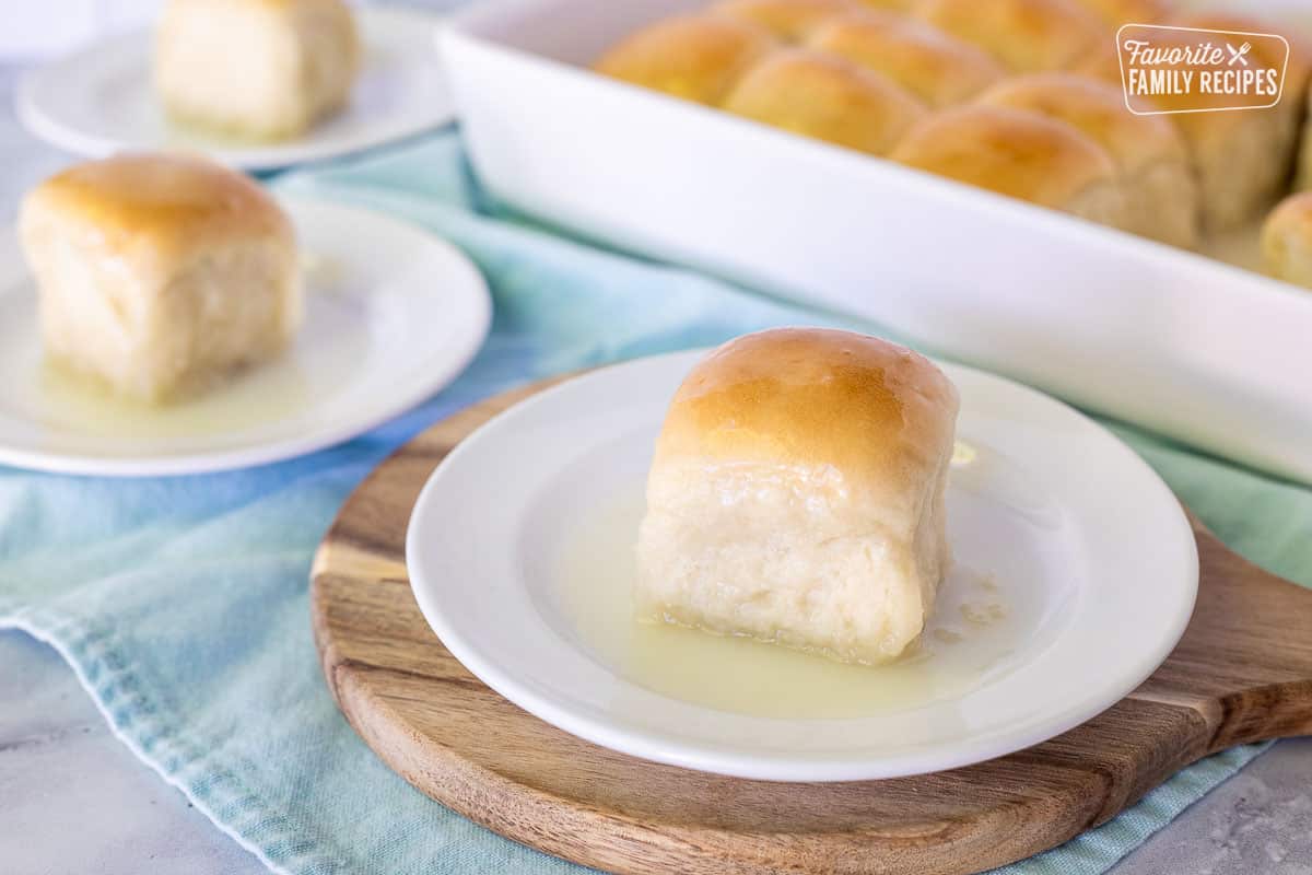
[[[277,188],[403,216],[463,248],[496,298],[487,346],[419,409],[282,464],[147,480],[0,468],[0,627],[54,644],[123,743],[276,871],[581,871],[430,802],[356,737],[311,641],[311,554],[384,454],[476,399],[588,365],[836,319],[518,220],[479,190],[451,131]],[[1117,432],[1227,543],[1312,585],[1312,492]],[[1102,872],[1260,749],[1200,762],[1117,820],[1005,871]]]

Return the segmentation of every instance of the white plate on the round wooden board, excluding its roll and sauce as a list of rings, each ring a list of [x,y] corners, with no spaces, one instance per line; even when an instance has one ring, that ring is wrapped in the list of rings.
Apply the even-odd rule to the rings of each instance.
[[[520,707],[690,769],[888,778],[1064,732],[1138,686],[1183,632],[1198,555],[1165,484],[1071,408],[945,366],[962,394],[959,437],[977,453],[954,470],[949,493],[954,577],[993,576],[1023,614],[989,669],[964,689],[836,719],[750,716],[639,686],[568,609],[571,542],[598,523],[619,533],[593,544],[592,561],[625,584],[638,517],[617,512],[631,506],[617,497],[640,496],[665,407],[698,356],[630,362],[543,392],[468,437],[424,487],[407,534],[415,597],[451,653]]]

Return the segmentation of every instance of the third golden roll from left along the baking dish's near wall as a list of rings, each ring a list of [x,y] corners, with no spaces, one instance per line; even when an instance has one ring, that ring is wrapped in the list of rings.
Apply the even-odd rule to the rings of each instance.
[[[912,129],[891,157],[1092,222],[1130,227],[1124,186],[1106,150],[1038,113],[981,105],[946,109]]]

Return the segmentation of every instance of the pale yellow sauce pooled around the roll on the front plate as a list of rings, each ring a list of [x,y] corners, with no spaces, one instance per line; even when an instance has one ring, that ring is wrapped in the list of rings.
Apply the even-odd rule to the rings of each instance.
[[[954,467],[980,455],[958,449]],[[559,600],[585,649],[627,681],[722,711],[781,719],[888,714],[959,695],[998,668],[1030,623],[1004,581],[958,564],[925,632],[893,662],[844,665],[823,656],[680,626],[632,610],[640,492],[580,521],[559,563]]]

